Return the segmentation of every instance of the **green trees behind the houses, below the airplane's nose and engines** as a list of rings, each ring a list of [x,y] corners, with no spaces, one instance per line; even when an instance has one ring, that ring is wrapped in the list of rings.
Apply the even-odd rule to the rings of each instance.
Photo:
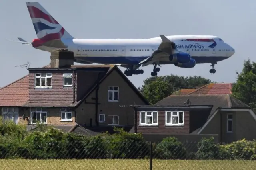
[[[144,85],[139,87],[140,92],[147,98],[150,104],[162,100],[180,89],[196,89],[211,81],[201,76],[154,76],[144,80]]]

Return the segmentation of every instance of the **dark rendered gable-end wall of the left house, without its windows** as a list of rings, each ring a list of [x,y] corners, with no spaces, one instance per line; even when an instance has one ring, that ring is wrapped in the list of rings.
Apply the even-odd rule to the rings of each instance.
[[[119,102],[108,102],[108,86],[119,86]],[[132,107],[120,107],[120,105],[144,105],[144,101],[134,92],[134,90],[122,79],[120,74],[114,70],[101,84],[98,91],[99,105],[98,105],[98,116],[99,114],[106,115],[118,115],[119,125],[122,126],[133,126],[134,125],[134,110]],[[87,98],[86,102],[95,102],[92,97],[96,97],[96,91],[92,92]],[[82,125],[90,125],[90,118],[92,118],[92,124],[95,123],[95,104],[82,104],[76,109],[77,111],[77,123]],[[108,125],[107,122],[99,123],[100,126]]]

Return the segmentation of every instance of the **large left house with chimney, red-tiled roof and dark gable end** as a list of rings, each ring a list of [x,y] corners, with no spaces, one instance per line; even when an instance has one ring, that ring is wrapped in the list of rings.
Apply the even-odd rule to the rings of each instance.
[[[148,105],[117,66],[76,66],[54,54],[49,66],[28,72],[0,89],[1,115],[28,125],[28,130],[38,122],[67,132],[132,127],[133,109],[120,106]]]

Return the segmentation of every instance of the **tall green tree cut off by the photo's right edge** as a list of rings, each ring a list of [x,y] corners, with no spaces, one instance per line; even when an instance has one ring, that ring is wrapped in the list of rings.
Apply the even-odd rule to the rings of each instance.
[[[242,72],[236,74],[232,95],[256,110],[256,63],[245,60]]]

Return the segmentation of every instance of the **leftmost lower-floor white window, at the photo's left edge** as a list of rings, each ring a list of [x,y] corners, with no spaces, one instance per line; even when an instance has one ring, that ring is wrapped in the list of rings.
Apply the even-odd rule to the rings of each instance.
[[[4,107],[2,109],[3,121],[13,121],[15,124],[18,124],[19,119],[19,109]]]

